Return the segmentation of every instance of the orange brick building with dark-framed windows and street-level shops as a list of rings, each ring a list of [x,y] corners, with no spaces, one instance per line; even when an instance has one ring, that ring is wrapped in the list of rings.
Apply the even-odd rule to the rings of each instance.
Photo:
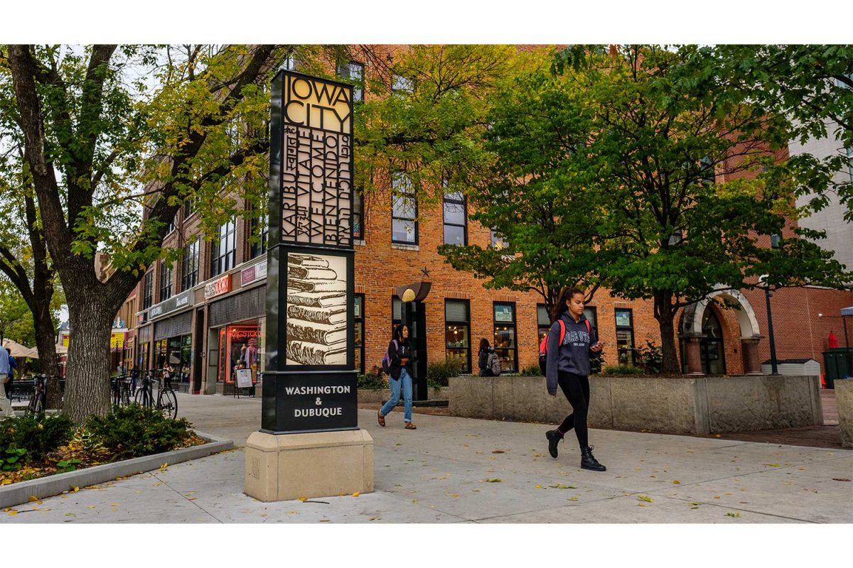
[[[364,67],[351,62],[339,71],[363,77]],[[396,287],[419,281],[432,283],[424,301],[430,362],[459,359],[463,370],[476,373],[477,348],[485,337],[496,347],[504,372],[536,365],[538,342],[548,329],[541,296],[486,290],[471,274],[445,264],[439,244],[495,244],[490,229],[469,220],[460,194],[420,207],[415,220],[405,198],[392,200],[392,184],[398,183],[404,180],[389,181],[355,212],[357,367],[374,370],[400,318]],[[241,201],[237,206],[247,208]],[[236,216],[220,227],[217,241],[193,240],[198,223],[191,205],[178,213],[165,246],[183,249],[183,260],[173,267],[158,262],[129,298],[129,309],[136,307],[136,329],[129,334],[132,359],[145,369],[161,368],[166,360],[180,366],[189,392],[227,392],[238,360],[249,362],[256,379],[264,370],[266,247],[251,244],[249,236],[262,235],[265,243],[265,218]],[[792,227],[793,221],[786,232]],[[740,310],[722,307],[716,300],[724,296]],[[762,339],[767,324],[763,291],[724,292],[716,300],[676,318],[685,372],[760,372],[760,361],[769,357],[768,341]],[[779,359],[822,364],[829,331],[840,330],[840,320],[818,318],[818,313],[838,314],[853,304],[853,295],[849,290],[781,290],[772,302]],[[606,341],[606,364],[631,363],[632,349],[647,341],[660,345],[651,301],[622,301],[600,290],[587,313]]]

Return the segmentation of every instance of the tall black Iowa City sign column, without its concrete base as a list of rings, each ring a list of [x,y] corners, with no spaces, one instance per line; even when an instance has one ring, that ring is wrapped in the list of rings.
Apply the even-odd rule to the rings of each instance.
[[[358,427],[352,169],[351,86],[279,72],[261,432]]]

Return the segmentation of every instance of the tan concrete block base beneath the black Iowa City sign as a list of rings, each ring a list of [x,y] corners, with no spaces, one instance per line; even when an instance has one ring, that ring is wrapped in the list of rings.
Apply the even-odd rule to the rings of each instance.
[[[367,430],[254,432],[246,441],[244,492],[263,502],[369,493],[373,463]]]

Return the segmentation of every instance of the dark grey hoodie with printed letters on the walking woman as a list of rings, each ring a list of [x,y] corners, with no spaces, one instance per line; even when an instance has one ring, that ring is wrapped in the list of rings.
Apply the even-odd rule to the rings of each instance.
[[[555,321],[548,331],[548,364],[546,368],[546,383],[548,393],[557,393],[557,376],[560,371],[575,375],[589,376],[589,347],[598,341],[598,331],[590,326],[587,332],[587,318],[581,315],[577,322],[568,311],[560,316],[566,324],[566,336],[563,344],[560,342],[560,322]]]

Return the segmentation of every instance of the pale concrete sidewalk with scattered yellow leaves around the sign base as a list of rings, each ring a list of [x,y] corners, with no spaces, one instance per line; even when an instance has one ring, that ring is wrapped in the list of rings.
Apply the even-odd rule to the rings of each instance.
[[[245,444],[259,399],[181,395],[200,430]],[[605,473],[578,467],[573,438],[548,456],[547,427],[393,412],[375,442],[375,491],[307,502],[242,493],[241,449],[0,514],[0,523],[850,523],[853,451],[591,430]]]

